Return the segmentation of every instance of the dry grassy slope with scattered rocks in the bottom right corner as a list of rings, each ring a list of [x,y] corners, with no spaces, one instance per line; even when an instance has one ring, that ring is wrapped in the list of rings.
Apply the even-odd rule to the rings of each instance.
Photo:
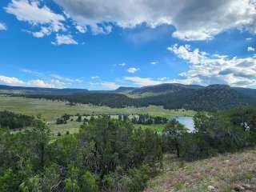
[[[164,171],[145,192],[256,191],[256,150],[219,155],[197,162],[165,158]],[[239,190],[240,188],[240,190]]]

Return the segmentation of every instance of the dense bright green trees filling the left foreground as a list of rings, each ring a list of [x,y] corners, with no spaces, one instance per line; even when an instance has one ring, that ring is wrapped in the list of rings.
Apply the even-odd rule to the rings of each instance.
[[[136,192],[162,166],[157,133],[107,117],[56,141],[38,120],[17,134],[0,129],[0,146],[2,192]]]

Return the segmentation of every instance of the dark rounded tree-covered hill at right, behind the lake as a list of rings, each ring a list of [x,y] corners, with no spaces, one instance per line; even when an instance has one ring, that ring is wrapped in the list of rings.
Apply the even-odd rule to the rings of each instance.
[[[226,110],[234,106],[256,106],[256,94],[243,94],[230,86],[212,85],[141,98],[141,102],[167,109]]]

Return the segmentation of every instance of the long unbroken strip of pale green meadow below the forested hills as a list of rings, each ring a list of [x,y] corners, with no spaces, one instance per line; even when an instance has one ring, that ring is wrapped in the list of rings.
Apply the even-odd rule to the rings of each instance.
[[[16,113],[41,114],[47,122],[54,121],[63,114],[150,114],[166,118],[176,116],[193,116],[192,110],[165,110],[162,106],[141,108],[110,108],[108,106],[77,105],[67,106],[66,102],[52,102],[46,99],[5,97],[0,96],[0,110],[10,110]]]

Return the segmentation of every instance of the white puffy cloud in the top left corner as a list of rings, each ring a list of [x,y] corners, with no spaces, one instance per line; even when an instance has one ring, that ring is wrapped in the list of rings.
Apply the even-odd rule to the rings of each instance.
[[[4,9],[9,14],[14,14],[19,21],[29,22],[32,26],[40,26],[37,32],[31,32],[36,38],[42,38],[52,32],[66,30],[62,22],[62,14],[55,14],[47,6],[42,6],[37,0],[12,0]]]

